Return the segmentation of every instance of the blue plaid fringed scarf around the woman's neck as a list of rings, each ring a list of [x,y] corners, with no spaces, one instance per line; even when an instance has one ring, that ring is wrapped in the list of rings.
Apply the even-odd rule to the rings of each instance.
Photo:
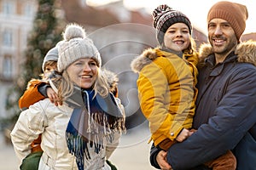
[[[76,156],[79,170],[84,170],[84,157],[90,159],[88,147],[98,154],[103,149],[103,139],[113,141],[114,131],[125,130],[124,116],[113,94],[106,98],[94,90],[76,90],[67,100],[73,113],[67,124],[66,140],[71,154]]]

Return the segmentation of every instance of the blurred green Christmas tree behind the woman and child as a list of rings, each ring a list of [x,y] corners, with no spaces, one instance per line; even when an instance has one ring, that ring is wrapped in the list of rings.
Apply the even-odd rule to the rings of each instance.
[[[38,13],[33,21],[32,31],[28,33],[27,48],[24,52],[25,62],[22,65],[20,77],[14,82],[7,98],[6,109],[11,112],[12,120],[15,122],[20,109],[18,100],[26,90],[26,84],[32,78],[39,78],[42,73],[42,63],[45,54],[50,48],[61,41],[61,31],[65,26],[61,14],[61,0],[38,0]],[[15,99],[14,99],[15,96]]]

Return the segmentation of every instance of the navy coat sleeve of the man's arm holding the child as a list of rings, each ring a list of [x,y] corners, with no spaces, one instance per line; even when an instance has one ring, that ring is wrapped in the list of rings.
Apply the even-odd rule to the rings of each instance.
[[[168,150],[167,161],[173,169],[195,167],[236,147],[256,122],[255,82],[256,71],[252,67],[236,70],[214,116],[189,139]]]

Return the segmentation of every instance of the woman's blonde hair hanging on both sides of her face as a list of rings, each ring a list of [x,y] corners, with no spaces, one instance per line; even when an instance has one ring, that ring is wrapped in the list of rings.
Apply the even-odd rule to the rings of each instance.
[[[67,74],[67,69],[62,72],[61,81],[58,84],[58,97],[62,101],[65,101],[69,96],[73,94],[74,82],[71,81]],[[80,88],[80,87],[79,87]],[[109,87],[107,80],[102,77],[102,70],[97,68],[96,81],[91,87],[95,90],[96,94],[100,94],[102,97],[106,97],[109,93]]]

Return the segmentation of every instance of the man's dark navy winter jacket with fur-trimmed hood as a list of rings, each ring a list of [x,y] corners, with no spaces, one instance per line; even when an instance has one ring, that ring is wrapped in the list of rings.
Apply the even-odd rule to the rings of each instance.
[[[242,42],[236,53],[218,65],[213,54],[205,54],[193,126],[198,130],[168,150],[167,161],[174,170],[191,169],[227,150],[234,151],[238,170],[255,169],[256,140],[249,132],[256,126],[256,44]],[[158,151],[151,150],[154,167]]]

